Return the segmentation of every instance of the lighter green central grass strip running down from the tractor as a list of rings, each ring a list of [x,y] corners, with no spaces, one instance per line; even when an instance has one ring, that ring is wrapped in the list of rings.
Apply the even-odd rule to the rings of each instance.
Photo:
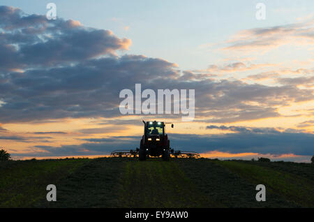
[[[121,207],[221,207],[207,198],[174,161],[160,158],[126,165]]]

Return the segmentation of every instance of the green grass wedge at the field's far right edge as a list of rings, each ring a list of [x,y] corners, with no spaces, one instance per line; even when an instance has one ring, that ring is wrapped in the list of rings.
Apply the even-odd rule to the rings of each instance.
[[[293,166],[289,169],[280,168],[278,163],[253,163],[251,161],[217,161],[217,163],[249,182],[264,184],[270,197],[280,196],[290,204],[299,207],[314,207],[314,181],[307,174],[298,173],[303,170],[294,170]],[[314,173],[313,165],[303,166],[308,170],[307,173]]]

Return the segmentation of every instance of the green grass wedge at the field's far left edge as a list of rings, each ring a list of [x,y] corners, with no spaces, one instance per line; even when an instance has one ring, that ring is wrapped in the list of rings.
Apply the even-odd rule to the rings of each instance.
[[[48,184],[57,184],[88,161],[82,158],[0,163],[0,207],[33,207],[46,197]]]

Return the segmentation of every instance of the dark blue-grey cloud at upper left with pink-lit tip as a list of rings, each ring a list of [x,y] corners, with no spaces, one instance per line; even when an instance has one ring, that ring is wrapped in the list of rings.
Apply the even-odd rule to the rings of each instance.
[[[117,38],[111,31],[83,27],[73,20],[25,15],[9,6],[0,6],[0,31],[0,71],[60,66],[126,50],[130,45],[130,40]]]

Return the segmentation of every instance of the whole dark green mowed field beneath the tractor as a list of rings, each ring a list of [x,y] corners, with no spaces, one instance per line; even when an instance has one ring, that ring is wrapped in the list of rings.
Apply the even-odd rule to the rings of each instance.
[[[57,186],[47,202],[46,186]],[[267,188],[266,202],[255,187]],[[0,207],[314,207],[314,165],[206,158],[0,163]]]

